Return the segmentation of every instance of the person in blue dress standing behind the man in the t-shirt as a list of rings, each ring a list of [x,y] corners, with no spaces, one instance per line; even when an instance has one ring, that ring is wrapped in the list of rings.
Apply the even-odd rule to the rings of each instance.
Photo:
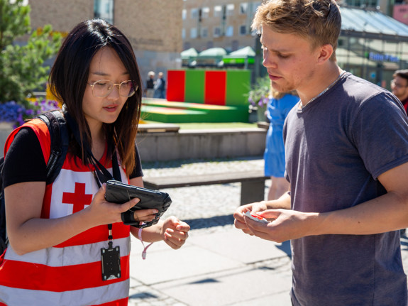
[[[289,188],[289,182],[285,178],[285,144],[282,131],[287,114],[297,102],[299,97],[295,90],[278,92],[272,88],[266,110],[270,124],[263,154],[265,176],[270,176],[271,179],[268,200],[276,200]]]

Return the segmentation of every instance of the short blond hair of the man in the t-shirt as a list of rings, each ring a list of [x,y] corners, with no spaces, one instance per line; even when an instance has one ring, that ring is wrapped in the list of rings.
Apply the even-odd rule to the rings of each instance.
[[[299,35],[309,40],[311,48],[330,44],[336,60],[337,40],[341,30],[340,9],[334,0],[270,0],[260,6],[253,19],[253,30],[265,24],[277,33]]]

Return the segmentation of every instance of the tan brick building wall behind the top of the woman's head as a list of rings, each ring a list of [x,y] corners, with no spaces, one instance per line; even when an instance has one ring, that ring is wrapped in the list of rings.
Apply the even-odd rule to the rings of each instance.
[[[94,0],[30,1],[31,27],[51,24],[69,32],[80,21],[94,18]],[[181,67],[183,0],[115,0],[114,24],[131,41],[140,74]]]

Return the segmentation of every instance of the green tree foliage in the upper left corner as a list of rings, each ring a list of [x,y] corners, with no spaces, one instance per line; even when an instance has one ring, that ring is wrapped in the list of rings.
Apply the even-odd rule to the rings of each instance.
[[[30,25],[30,6],[23,0],[0,0],[0,103],[28,106],[26,97],[47,82],[50,67],[43,64],[57,53],[62,35],[50,25],[30,35]],[[15,43],[23,35],[30,35],[27,44]]]

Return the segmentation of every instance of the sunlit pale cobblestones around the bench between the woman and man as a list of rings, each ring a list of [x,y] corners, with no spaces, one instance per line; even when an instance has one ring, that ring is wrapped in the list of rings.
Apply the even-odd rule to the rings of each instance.
[[[228,171],[246,171],[263,169],[263,159],[239,158],[218,160],[177,160],[170,162],[143,163],[145,176],[193,175],[225,173]],[[265,192],[270,182],[265,184]],[[165,216],[175,215],[179,219],[189,220],[192,229],[209,229],[217,225],[232,224],[232,214],[239,206],[241,183],[206,185],[163,189],[172,197],[172,205]]]

